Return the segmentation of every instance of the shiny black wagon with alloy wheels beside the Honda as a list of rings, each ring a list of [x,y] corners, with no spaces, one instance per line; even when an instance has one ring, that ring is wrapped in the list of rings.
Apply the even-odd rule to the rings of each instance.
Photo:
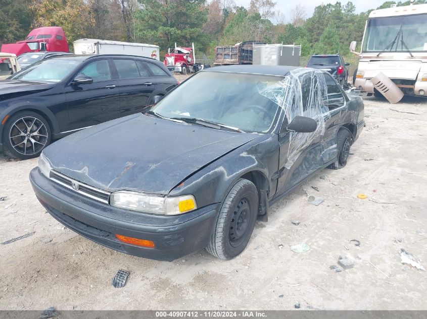
[[[178,82],[163,63],[130,55],[41,60],[0,82],[0,147],[27,159],[53,139],[143,110]]]

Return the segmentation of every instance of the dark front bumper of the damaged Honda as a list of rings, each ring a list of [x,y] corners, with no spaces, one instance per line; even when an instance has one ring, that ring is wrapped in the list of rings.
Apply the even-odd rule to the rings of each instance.
[[[157,216],[111,207],[89,199],[44,177],[38,167],[30,172],[35,195],[60,223],[109,248],[161,261],[173,261],[208,246],[219,204],[177,216]],[[115,237],[152,240],[154,248],[124,243]]]

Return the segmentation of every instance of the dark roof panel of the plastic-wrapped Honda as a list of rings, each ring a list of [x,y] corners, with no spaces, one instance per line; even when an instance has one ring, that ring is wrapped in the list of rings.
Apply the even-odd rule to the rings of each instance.
[[[286,76],[292,70],[296,70],[300,68],[301,67],[290,67],[290,66],[236,65],[236,66],[213,67],[213,68],[206,69],[204,71]]]

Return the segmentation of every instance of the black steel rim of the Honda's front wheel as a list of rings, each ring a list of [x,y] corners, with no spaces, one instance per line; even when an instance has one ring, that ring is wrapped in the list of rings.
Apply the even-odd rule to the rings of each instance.
[[[251,207],[246,197],[242,198],[234,207],[229,224],[229,241],[231,246],[238,247],[245,240],[249,229]]]

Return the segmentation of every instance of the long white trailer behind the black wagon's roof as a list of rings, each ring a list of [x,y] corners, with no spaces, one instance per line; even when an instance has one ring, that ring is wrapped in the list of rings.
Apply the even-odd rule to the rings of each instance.
[[[160,60],[159,46],[153,44],[99,39],[79,39],[73,44],[75,54],[129,54]]]

